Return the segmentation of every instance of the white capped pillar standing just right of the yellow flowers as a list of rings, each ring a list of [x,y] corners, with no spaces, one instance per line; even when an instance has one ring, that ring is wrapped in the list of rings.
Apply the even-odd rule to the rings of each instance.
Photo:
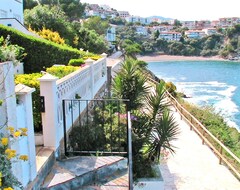
[[[19,101],[24,105],[25,118],[22,118],[25,122],[25,126],[28,129],[27,132],[27,150],[28,150],[28,162],[29,162],[29,180],[33,181],[37,176],[36,168],[36,148],[34,138],[34,125],[33,125],[33,111],[32,111],[32,93],[34,88],[30,88],[23,84],[18,84],[15,87],[15,92],[19,97]],[[18,126],[21,128],[21,126]],[[23,174],[24,175],[24,174]]]

